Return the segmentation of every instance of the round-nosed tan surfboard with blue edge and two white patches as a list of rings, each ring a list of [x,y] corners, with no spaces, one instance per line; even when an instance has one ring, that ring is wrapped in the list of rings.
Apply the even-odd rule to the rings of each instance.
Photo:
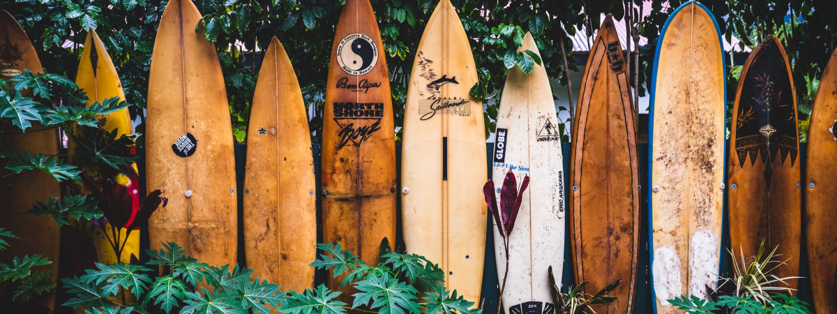
[[[720,33],[709,9],[688,2],[671,13],[657,42],[648,199],[658,313],[679,313],[665,300],[705,297],[706,285],[716,285],[727,109]]]

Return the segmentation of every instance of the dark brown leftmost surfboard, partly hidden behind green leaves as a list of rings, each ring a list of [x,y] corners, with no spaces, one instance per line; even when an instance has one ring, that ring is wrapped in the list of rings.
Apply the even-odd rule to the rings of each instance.
[[[18,21],[11,14],[3,10],[0,12],[0,79],[10,80],[14,76],[23,74],[23,69],[33,73],[43,73],[41,61],[32,43],[23,32]],[[31,91],[23,90],[24,95],[31,97]],[[46,129],[39,123],[33,122],[32,127],[20,133],[17,126],[0,126],[3,130],[18,131],[0,132],[0,143],[4,151],[23,151],[30,154],[43,153],[46,156],[58,153],[58,132],[54,128]],[[10,245],[8,250],[0,250],[0,260],[10,263],[13,256],[44,255],[52,264],[36,268],[39,271],[52,270],[49,278],[58,280],[60,230],[51,216],[24,214],[33,208],[37,201],[49,198],[59,198],[59,183],[49,174],[35,170],[21,172],[19,175],[7,175],[6,162],[0,159],[0,199],[3,207],[0,209],[0,227],[12,232],[20,239],[5,239]],[[51,312],[55,306],[55,291],[29,301],[35,307],[33,311]],[[0,306],[18,306],[12,301],[13,291],[9,286],[0,285]],[[40,307],[40,308],[37,308]]]

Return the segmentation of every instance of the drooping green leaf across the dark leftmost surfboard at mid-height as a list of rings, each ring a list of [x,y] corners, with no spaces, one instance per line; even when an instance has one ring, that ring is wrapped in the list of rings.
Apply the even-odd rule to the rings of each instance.
[[[67,180],[80,181],[77,167],[70,166],[64,161],[59,160],[58,157],[45,157],[44,154],[30,155],[28,152],[0,152],[0,157],[8,158],[6,160],[6,169],[13,172],[23,172],[24,170],[41,170],[48,173],[52,178],[59,182]]]

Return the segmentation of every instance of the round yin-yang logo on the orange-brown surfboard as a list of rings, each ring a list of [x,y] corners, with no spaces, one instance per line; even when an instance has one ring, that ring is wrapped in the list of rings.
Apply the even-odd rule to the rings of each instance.
[[[350,33],[337,45],[337,64],[350,75],[365,75],[377,64],[377,45],[363,33]]]

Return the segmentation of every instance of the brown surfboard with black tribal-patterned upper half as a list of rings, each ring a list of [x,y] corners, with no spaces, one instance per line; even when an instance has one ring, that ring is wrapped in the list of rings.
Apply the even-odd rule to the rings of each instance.
[[[777,258],[785,264],[772,275],[797,276],[802,208],[796,92],[788,56],[775,36],[747,58],[732,114],[727,166],[732,250],[750,263],[762,241],[768,252],[778,246]],[[785,282],[796,289],[796,279]]]

